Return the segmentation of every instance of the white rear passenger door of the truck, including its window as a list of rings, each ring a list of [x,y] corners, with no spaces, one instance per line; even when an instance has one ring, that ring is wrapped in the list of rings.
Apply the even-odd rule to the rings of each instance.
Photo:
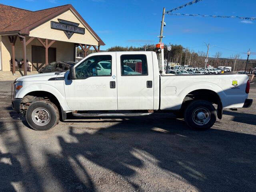
[[[154,74],[151,52],[117,52],[118,110],[154,107]]]

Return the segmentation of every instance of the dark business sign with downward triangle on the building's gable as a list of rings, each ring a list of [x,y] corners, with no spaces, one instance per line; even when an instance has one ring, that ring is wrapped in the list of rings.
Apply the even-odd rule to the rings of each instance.
[[[70,39],[74,33],[84,34],[85,28],[78,27],[79,23],[58,19],[59,22],[51,21],[51,28],[62,30]]]

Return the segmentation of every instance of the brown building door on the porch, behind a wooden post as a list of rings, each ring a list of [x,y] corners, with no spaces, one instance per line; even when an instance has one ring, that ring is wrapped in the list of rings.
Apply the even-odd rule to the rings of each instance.
[[[56,61],[56,48],[48,48],[48,63]],[[45,48],[32,46],[32,71],[38,71],[45,66]]]

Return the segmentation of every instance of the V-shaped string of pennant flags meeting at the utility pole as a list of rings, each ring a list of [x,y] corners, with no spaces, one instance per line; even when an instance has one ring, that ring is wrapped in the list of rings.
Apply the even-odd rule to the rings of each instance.
[[[169,15],[183,15],[183,16],[201,16],[201,17],[213,17],[213,18],[238,18],[238,19],[243,19],[243,20],[256,20],[256,17],[239,17],[239,16],[219,16],[219,15],[202,15],[202,14],[183,14],[183,13],[172,13],[173,11],[182,9],[186,6],[190,6],[192,4],[198,3],[202,0],[194,0],[191,2],[188,2],[182,6],[179,6],[177,8],[174,8],[172,10],[166,11],[165,14]]]

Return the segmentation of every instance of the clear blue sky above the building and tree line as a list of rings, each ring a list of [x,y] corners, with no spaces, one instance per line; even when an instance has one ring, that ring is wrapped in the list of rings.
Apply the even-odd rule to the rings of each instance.
[[[160,34],[163,7],[176,8],[191,0],[0,0],[28,10],[40,10],[64,4],[72,4],[106,46],[140,46],[156,44]],[[173,13],[213,14],[223,16],[256,17],[255,0],[203,0]],[[163,42],[181,44],[195,52],[205,51],[204,42],[209,42],[210,56],[217,51],[223,57],[241,54],[256,59],[256,20],[232,18],[209,18],[195,16],[165,16]]]

